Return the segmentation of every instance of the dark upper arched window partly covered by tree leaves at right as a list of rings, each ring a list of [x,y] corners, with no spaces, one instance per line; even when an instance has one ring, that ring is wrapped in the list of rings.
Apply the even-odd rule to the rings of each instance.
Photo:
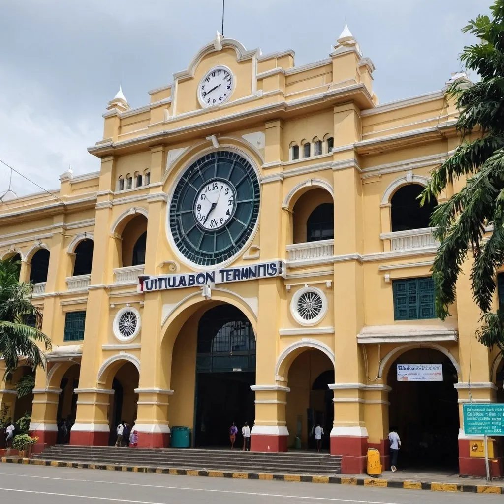
[[[420,206],[418,197],[423,191],[420,184],[399,187],[391,200],[392,232],[430,227],[430,216],[436,201],[425,202]]]

